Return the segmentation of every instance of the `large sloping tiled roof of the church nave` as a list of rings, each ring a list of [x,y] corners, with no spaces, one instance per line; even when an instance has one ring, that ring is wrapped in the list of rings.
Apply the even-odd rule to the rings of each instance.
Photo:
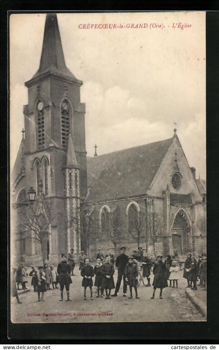
[[[86,201],[146,193],[173,138],[87,159]]]

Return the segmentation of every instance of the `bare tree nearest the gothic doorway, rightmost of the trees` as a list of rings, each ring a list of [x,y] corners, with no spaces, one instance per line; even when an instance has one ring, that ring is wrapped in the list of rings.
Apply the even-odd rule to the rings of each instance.
[[[153,212],[147,216],[146,226],[151,237],[153,252],[156,256],[155,244],[160,242],[160,237],[163,231],[163,216],[157,212]]]

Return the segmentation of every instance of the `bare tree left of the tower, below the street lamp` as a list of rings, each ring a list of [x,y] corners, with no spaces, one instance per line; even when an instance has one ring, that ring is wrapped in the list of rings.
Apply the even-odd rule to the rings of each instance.
[[[17,207],[19,229],[26,233],[26,237],[39,243],[42,251],[43,263],[47,260],[46,241],[49,229],[49,206],[43,200],[43,196],[24,208]]]

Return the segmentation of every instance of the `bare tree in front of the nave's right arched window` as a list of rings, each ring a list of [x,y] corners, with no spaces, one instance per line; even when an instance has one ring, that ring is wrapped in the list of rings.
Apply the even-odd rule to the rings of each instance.
[[[145,241],[145,225],[146,217],[143,213],[137,212],[136,215],[130,219],[128,217],[128,233],[129,236],[137,242],[138,248],[140,243]]]

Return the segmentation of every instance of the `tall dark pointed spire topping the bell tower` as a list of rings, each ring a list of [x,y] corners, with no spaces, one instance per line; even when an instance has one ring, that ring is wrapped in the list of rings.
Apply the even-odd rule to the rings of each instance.
[[[57,16],[55,13],[47,13],[46,15],[40,67],[33,78],[48,71],[77,80],[66,66]]]

